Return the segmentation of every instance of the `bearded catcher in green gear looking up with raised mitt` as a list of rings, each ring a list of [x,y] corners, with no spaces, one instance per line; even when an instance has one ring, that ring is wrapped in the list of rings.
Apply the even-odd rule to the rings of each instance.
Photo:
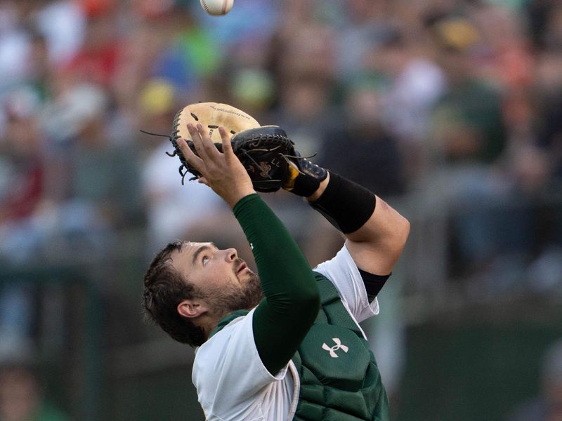
[[[358,323],[379,312],[409,222],[301,158],[281,128],[228,105],[185,107],[171,140],[182,176],[192,173],[233,209],[257,266],[252,272],[233,248],[177,241],[145,274],[145,311],[196,347],[192,380],[207,420],[388,420]],[[303,196],[344,234],[332,260],[311,269],[256,194],[277,189]]]

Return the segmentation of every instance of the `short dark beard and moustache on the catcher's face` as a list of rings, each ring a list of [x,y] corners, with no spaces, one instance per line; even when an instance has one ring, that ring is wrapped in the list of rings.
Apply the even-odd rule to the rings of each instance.
[[[240,268],[243,261],[242,259],[238,260],[240,260],[240,262],[237,262],[237,265],[235,265],[235,276],[238,281],[240,281],[240,284],[228,284],[226,288],[207,293],[207,300],[211,306],[211,311],[215,314],[226,316],[235,310],[251,310],[256,307],[256,305],[259,305],[259,302],[263,298],[259,276],[248,270],[246,274],[244,274],[244,278],[241,279],[240,274],[237,273],[237,269]]]

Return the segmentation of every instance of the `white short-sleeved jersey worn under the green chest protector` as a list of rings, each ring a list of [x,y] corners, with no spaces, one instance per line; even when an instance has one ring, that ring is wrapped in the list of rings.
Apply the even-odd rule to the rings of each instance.
[[[371,303],[347,248],[314,269],[339,291],[355,321],[379,313]],[[208,421],[292,420],[299,399],[299,377],[289,362],[276,375],[263,366],[254,341],[254,310],[234,319],[195,352],[192,380]]]

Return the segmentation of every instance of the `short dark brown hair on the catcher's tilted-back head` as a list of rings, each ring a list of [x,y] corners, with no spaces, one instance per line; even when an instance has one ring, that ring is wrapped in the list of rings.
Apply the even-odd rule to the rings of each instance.
[[[174,340],[192,347],[205,341],[200,326],[178,313],[182,300],[200,296],[193,286],[171,265],[171,253],[180,251],[182,241],[169,243],[150,263],[144,279],[143,309],[148,319],[157,323]]]

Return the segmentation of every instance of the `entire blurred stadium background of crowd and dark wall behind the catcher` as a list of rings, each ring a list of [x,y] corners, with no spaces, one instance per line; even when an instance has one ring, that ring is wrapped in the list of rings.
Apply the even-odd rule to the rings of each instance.
[[[203,420],[143,319],[174,239],[235,246],[181,185],[178,109],[226,102],[412,224],[365,329],[393,420],[562,420],[562,2],[0,1],[0,421]],[[266,201],[311,265],[341,237]],[[255,268],[255,266],[253,266]],[[244,364],[244,361],[240,362]]]

